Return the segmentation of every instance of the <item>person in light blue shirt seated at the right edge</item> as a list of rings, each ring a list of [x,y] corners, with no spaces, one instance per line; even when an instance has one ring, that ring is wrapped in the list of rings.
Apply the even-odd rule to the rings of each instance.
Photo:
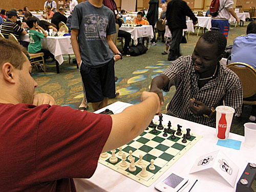
[[[247,26],[246,36],[239,36],[234,39],[233,48],[231,50],[231,63],[232,62],[244,62],[256,70],[256,20],[253,20]],[[246,101],[255,101],[256,94],[244,98]],[[238,117],[239,116],[239,117]],[[234,117],[234,123],[238,123],[241,120],[240,114]],[[252,105],[250,121],[256,122],[256,105]]]

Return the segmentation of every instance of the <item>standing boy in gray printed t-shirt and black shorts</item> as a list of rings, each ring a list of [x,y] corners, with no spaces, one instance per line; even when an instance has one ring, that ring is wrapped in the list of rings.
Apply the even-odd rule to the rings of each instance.
[[[114,63],[122,55],[111,40],[113,33],[116,33],[115,17],[102,0],[89,0],[75,7],[71,43],[87,101],[92,103],[94,111],[108,105],[108,98],[115,98]],[[82,102],[86,105],[85,99]]]

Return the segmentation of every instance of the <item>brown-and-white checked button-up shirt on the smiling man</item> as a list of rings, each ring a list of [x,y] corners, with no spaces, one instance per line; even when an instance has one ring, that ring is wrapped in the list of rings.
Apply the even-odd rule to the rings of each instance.
[[[241,113],[243,93],[239,77],[228,68],[220,65],[217,77],[209,80],[201,89],[198,88],[199,74],[196,73],[191,55],[179,57],[162,74],[169,78],[169,84],[163,88],[169,91],[175,83],[176,92],[167,107],[167,115],[186,119],[207,126],[216,126],[216,115],[206,118],[203,114],[195,115],[189,108],[189,99],[195,98],[209,108],[223,105],[231,106],[236,113]]]

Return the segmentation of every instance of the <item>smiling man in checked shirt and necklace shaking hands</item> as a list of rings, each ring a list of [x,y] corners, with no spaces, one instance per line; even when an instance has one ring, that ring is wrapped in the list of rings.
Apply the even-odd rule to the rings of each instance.
[[[158,94],[162,104],[162,89],[169,91],[175,84],[176,92],[168,104],[167,115],[215,127],[215,108],[223,100],[241,113],[241,81],[219,62],[226,44],[221,32],[208,31],[199,38],[192,55],[179,57],[152,80],[150,91]]]

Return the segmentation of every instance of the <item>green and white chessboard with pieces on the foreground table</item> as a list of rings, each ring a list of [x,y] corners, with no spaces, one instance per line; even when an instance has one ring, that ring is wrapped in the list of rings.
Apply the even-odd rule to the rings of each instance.
[[[159,124],[162,127],[159,127]],[[150,186],[202,138],[190,133],[190,129],[185,129],[181,125],[177,127],[172,126],[170,122],[168,125],[162,125],[161,120],[152,121],[146,130],[131,142],[119,149],[102,153],[99,163],[145,186]],[[186,136],[188,138],[184,139]],[[114,163],[113,157],[116,161]],[[133,164],[130,165],[131,163]],[[131,167],[136,169],[130,171]]]

